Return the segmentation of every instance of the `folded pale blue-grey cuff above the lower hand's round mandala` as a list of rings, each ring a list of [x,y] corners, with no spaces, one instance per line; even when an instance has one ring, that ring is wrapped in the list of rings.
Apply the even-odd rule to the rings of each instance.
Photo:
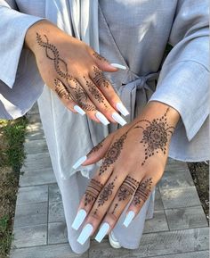
[[[182,118],[190,141],[209,114],[208,71],[198,62],[177,62],[160,73],[158,86],[149,101],[172,106]]]

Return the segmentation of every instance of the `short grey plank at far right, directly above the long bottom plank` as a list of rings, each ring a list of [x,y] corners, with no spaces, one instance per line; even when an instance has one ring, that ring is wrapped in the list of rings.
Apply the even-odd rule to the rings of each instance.
[[[170,230],[207,227],[206,215],[201,206],[166,210]]]

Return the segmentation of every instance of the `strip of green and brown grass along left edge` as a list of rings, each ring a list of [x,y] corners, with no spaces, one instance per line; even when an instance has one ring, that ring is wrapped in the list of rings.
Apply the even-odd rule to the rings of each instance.
[[[8,257],[27,119],[0,120],[0,258]]]

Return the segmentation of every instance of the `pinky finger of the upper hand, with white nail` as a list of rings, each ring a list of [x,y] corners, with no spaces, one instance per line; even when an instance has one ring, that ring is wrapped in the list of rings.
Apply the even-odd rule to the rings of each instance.
[[[54,79],[54,90],[56,94],[60,97],[61,102],[71,111],[75,113],[85,114],[85,111],[78,106],[70,97],[70,94],[66,87],[63,85],[60,79]]]

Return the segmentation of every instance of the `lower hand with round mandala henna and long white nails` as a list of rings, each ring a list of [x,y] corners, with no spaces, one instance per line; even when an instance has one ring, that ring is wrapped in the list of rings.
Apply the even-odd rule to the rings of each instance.
[[[166,104],[150,102],[132,123],[110,134],[87,154],[83,165],[103,160],[86,188],[72,225],[78,229],[86,218],[77,239],[80,244],[100,224],[95,238],[101,242],[130,201],[125,227],[140,212],[163,175],[169,142],[179,118],[179,113]]]

